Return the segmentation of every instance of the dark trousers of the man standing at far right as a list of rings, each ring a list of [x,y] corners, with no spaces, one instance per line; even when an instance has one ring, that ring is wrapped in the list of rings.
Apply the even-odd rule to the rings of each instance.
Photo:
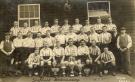
[[[124,52],[120,51],[120,56],[121,56],[120,62],[121,69],[124,69],[124,71],[126,72],[130,71],[130,50],[127,49]]]

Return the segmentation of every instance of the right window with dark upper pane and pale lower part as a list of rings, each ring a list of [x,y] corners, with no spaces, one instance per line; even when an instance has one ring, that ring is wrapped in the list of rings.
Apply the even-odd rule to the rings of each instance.
[[[87,2],[88,20],[94,17],[111,16],[110,1],[90,1]]]

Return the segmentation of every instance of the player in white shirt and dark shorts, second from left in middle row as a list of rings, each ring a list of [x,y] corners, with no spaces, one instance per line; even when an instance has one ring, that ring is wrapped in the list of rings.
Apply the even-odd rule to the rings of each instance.
[[[23,60],[26,60],[28,58],[29,54],[34,52],[35,48],[35,42],[33,39],[33,34],[32,32],[27,33],[27,37],[23,40]]]

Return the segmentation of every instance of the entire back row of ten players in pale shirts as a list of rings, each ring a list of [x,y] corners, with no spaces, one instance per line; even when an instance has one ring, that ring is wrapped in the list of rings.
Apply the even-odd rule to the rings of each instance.
[[[64,34],[67,34],[69,32],[70,27],[72,27],[74,33],[77,33],[77,34],[80,32],[80,28],[82,28],[82,27],[84,28],[85,33],[89,33],[91,31],[90,30],[91,27],[94,27],[97,33],[101,33],[103,30],[102,29],[103,26],[106,26],[107,31],[112,31],[113,28],[117,28],[116,25],[112,23],[111,18],[108,18],[108,24],[103,24],[101,22],[100,18],[97,19],[97,24],[94,24],[94,25],[90,24],[90,22],[88,20],[86,20],[84,26],[82,24],[80,24],[79,19],[76,18],[75,24],[72,26],[69,24],[69,21],[67,19],[64,20],[63,26],[60,26],[58,19],[55,19],[54,24],[51,27],[49,26],[48,21],[46,21],[43,28],[41,28],[41,25],[40,25],[39,21],[37,21],[37,20],[35,20],[34,26],[32,26],[32,27],[28,27],[28,23],[24,22],[24,26],[22,28],[19,28],[18,22],[15,21],[14,26],[10,29],[10,31],[11,31],[13,36],[17,36],[17,33],[19,31],[21,31],[23,35],[27,35],[28,31],[31,31],[34,34],[37,32],[41,32],[42,35],[45,35],[46,31],[50,30],[51,34],[53,36],[55,36],[55,34],[58,33],[59,28],[62,28]]]

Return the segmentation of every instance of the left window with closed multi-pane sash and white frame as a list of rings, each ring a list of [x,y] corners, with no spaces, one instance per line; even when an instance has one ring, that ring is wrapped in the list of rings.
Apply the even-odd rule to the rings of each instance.
[[[23,27],[23,23],[27,22],[28,27],[34,25],[34,21],[40,22],[40,4],[19,4],[18,5],[18,23],[19,27]]]

